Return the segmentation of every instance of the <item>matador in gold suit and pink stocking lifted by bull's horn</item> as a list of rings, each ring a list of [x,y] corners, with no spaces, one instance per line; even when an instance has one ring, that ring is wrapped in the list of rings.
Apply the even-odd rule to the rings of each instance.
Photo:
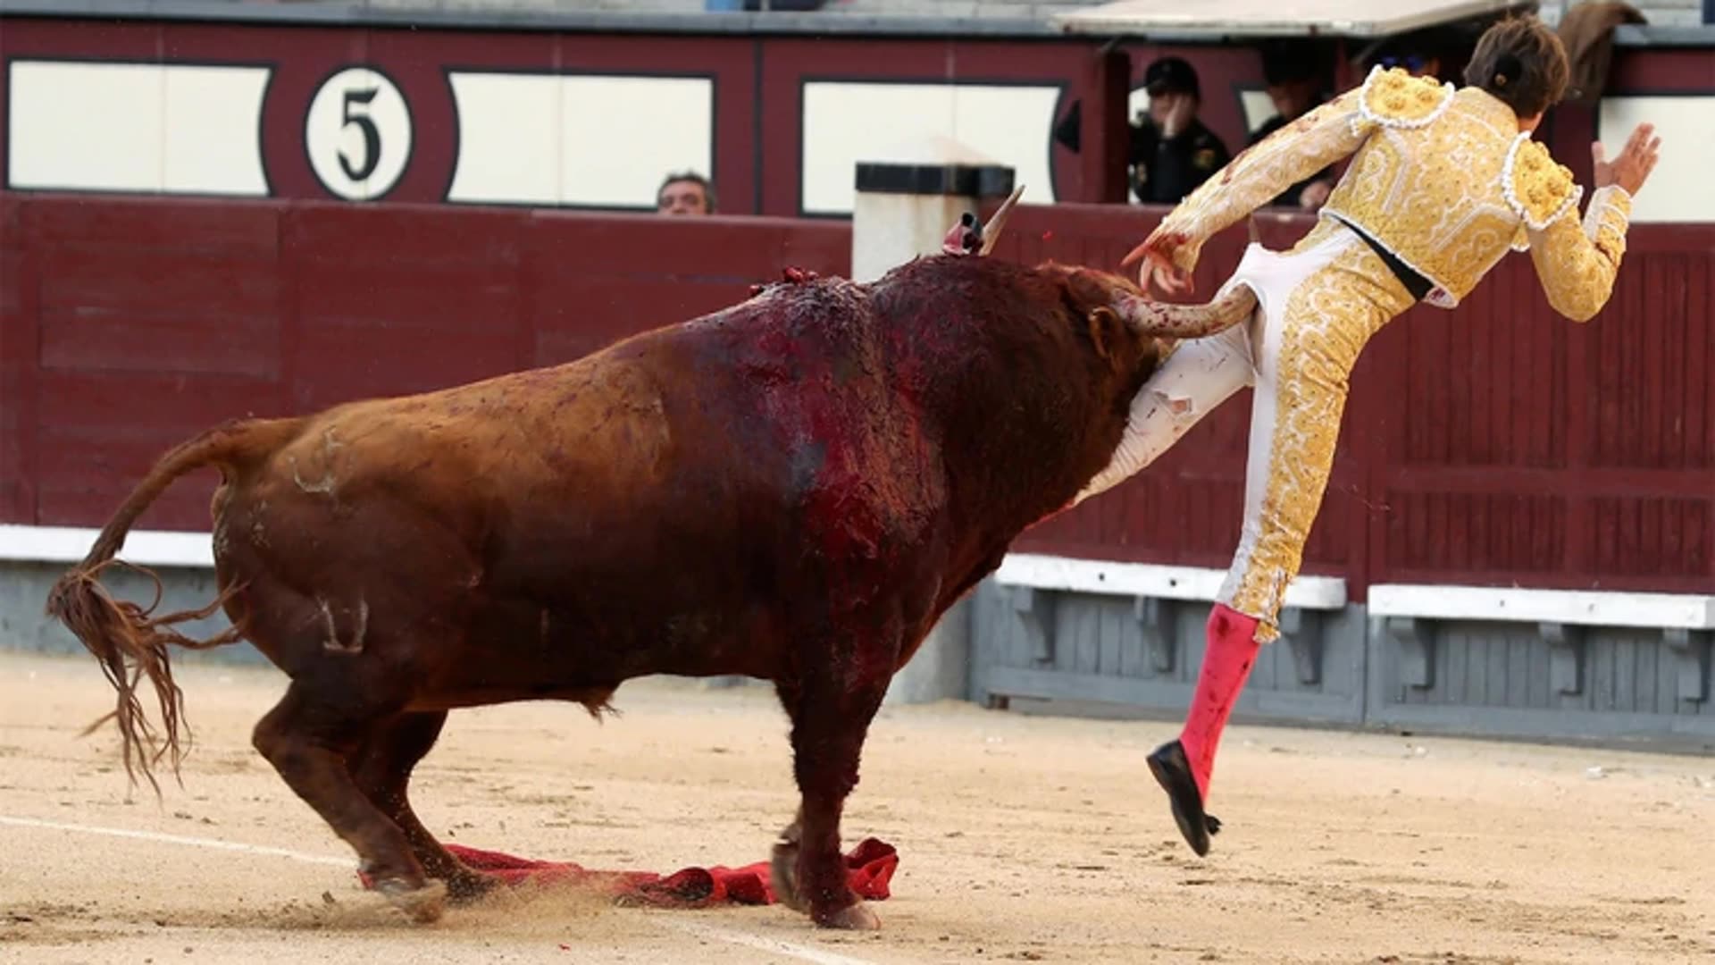
[[[1302,240],[1288,251],[1245,249],[1209,309],[1249,288],[1249,319],[1176,347],[1134,398],[1111,464],[1075,500],[1144,469],[1254,386],[1238,548],[1209,615],[1183,730],[1149,756],[1199,855],[1219,828],[1204,810],[1216,747],[1261,644],[1279,634],[1281,599],[1322,503],[1346,379],[1365,342],[1418,302],[1458,306],[1509,251],[1530,252],[1549,304],[1571,319],[1588,321],[1612,294],[1631,199],[1660,146],[1653,127],[1640,124],[1612,161],[1592,146],[1597,189],[1580,218],[1583,189],[1531,139],[1566,91],[1559,38],[1537,17],[1497,22],[1478,39],[1465,84],[1370,70],[1358,88],[1237,156],[1125,259],[1142,259],[1146,290],[1151,282],[1185,290],[1204,240],[1351,158]]]

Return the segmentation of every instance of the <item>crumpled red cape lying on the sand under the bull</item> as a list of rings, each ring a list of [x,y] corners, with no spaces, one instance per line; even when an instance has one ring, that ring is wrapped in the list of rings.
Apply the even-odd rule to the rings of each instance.
[[[657,908],[707,908],[710,905],[773,905],[768,862],[744,867],[686,867],[669,876],[653,871],[590,871],[571,862],[520,859],[501,852],[446,845],[458,860],[475,871],[504,879],[508,884],[602,884],[614,898],[631,905]],[[899,867],[894,845],[864,838],[845,853],[845,879],[864,900],[885,900],[888,881]],[[357,872],[364,888],[372,888],[367,874]]]

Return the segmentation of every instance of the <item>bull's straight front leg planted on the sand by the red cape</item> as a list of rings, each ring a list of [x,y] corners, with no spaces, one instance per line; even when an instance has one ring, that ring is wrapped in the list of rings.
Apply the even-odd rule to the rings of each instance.
[[[875,640],[858,647],[882,647]],[[851,658],[854,651],[845,651]],[[859,651],[861,652],[861,651]],[[803,804],[797,821],[782,833],[785,845],[775,867],[785,871],[784,859],[794,850],[791,835],[797,831],[796,860],[789,876],[775,874],[775,893],[782,903],[809,910],[825,927],[876,929],[880,919],[851,889],[845,859],[840,853],[840,814],[845,797],[858,786],[858,762],[870,721],[882,707],[892,677],[890,647],[885,661],[863,661],[863,668],[845,661],[823,661],[806,670],[797,687],[780,687],[780,699],[792,718],[792,771]],[[844,666],[840,666],[844,665]]]

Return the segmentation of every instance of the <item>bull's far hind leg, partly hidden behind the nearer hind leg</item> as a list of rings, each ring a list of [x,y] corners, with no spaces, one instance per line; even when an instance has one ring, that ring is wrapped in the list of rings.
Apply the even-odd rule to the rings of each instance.
[[[444,725],[446,711],[391,718],[369,735],[364,749],[352,757],[350,771],[364,797],[405,831],[405,840],[410,841],[424,874],[446,881],[453,900],[465,901],[489,893],[499,881],[466,867],[442,848],[417,819],[406,797],[412,769],[434,747]]]

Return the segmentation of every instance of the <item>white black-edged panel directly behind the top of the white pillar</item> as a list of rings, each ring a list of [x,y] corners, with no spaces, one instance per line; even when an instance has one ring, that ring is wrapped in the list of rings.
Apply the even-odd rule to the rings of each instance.
[[[1020,201],[1055,201],[1048,151],[1060,88],[1005,84],[804,84],[801,194],[806,215],[849,215],[858,161],[945,137],[1014,168]]]

